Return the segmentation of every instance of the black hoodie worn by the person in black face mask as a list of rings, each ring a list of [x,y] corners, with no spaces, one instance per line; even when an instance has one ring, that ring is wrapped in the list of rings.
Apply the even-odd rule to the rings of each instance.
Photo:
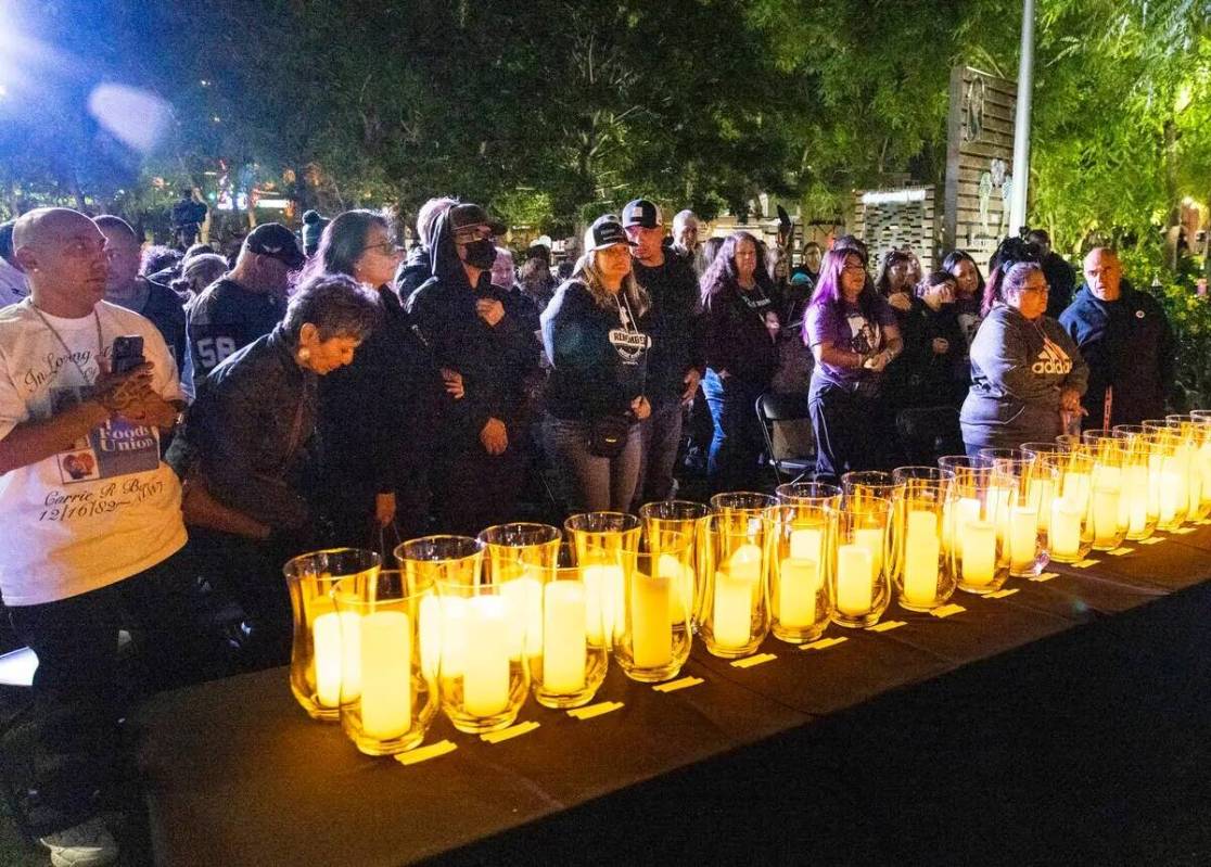
[[[489,418],[515,432],[526,409],[527,378],[538,369],[539,351],[533,333],[509,292],[492,285],[484,270],[471,286],[458,258],[449,225],[450,211],[437,218],[430,257],[431,275],[407,302],[414,332],[429,346],[437,364],[463,374],[464,397],[447,402],[455,448],[480,446],[480,432]],[[495,327],[476,312],[476,302],[492,298],[505,308]],[[510,437],[512,441],[513,437]]]

